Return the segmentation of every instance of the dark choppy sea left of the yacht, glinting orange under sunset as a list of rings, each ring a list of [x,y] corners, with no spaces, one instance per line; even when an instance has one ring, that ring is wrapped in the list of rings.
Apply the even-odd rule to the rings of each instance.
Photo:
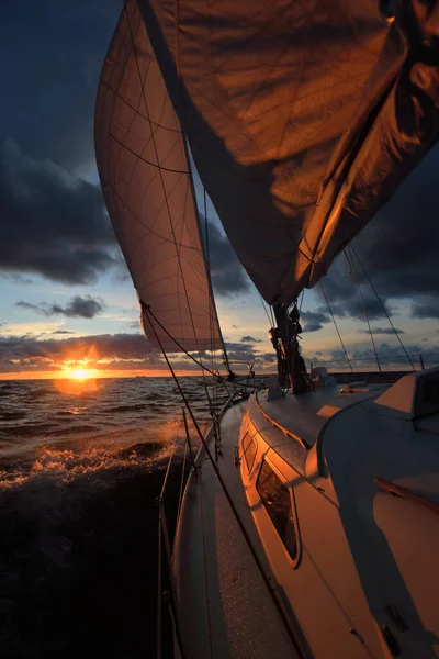
[[[199,378],[182,378],[207,424]],[[157,496],[182,402],[170,378],[0,382],[0,656],[155,656]]]

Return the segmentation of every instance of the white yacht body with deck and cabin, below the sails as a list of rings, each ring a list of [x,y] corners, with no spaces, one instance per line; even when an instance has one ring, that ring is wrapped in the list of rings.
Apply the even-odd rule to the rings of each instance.
[[[439,656],[439,517],[374,481],[439,503],[438,428],[430,417],[428,433],[426,421],[414,429],[404,414],[376,404],[382,386],[348,398],[339,389],[272,402],[259,393],[222,421],[218,467],[294,645],[201,451],[173,560],[188,659]],[[308,448],[280,427],[294,428]],[[243,455],[249,439],[251,460]],[[273,502],[262,501],[262,463],[290,491],[283,539],[268,513]]]

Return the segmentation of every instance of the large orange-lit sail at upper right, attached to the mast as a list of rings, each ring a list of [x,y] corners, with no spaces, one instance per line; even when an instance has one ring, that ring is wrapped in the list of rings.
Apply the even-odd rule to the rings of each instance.
[[[435,0],[139,0],[200,176],[255,284],[327,271],[437,139]],[[437,9],[437,8],[436,8]]]

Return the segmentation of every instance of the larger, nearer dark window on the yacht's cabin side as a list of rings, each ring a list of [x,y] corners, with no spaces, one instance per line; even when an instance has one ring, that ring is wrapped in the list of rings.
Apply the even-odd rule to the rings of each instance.
[[[291,509],[290,490],[266,460],[262,460],[256,489],[282,543],[285,545],[291,558],[295,560],[297,558],[297,539]]]

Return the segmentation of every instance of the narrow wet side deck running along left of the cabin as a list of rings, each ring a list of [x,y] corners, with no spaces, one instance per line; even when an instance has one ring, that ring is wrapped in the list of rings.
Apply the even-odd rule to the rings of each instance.
[[[246,403],[239,403],[225,413],[218,465],[257,547],[234,461],[245,409]],[[185,491],[173,561],[184,655],[200,659],[294,659],[299,655],[204,451],[200,465]],[[258,555],[269,572],[264,557]]]

